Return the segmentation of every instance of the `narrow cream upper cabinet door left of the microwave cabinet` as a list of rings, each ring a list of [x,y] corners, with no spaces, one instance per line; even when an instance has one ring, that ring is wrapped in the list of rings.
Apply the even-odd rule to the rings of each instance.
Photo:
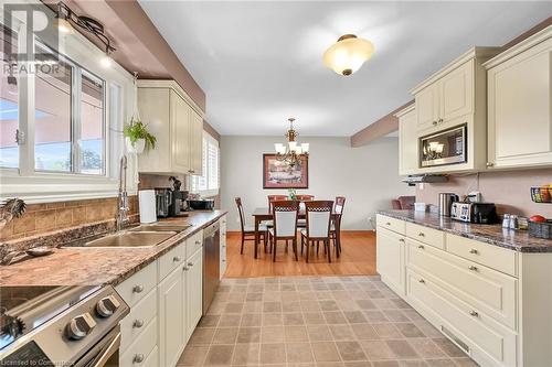
[[[399,174],[415,173],[418,169],[416,111],[399,118]]]

